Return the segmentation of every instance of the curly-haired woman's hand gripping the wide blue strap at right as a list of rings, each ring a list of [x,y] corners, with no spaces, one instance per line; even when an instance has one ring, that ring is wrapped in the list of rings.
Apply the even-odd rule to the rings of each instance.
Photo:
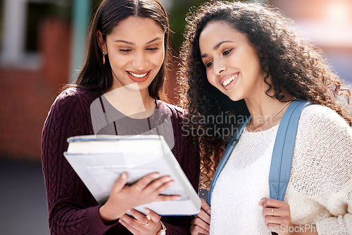
[[[290,227],[295,227],[291,223],[291,212],[289,204],[272,198],[262,198],[258,205],[263,207],[263,217],[265,225],[279,235],[291,235]]]

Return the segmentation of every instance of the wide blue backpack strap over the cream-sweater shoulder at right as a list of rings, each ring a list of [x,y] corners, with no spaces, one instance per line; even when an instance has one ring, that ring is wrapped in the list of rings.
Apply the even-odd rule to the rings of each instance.
[[[279,124],[270,165],[270,198],[284,201],[291,175],[299,117],[303,108],[310,104],[313,103],[303,100],[293,101],[285,111]]]

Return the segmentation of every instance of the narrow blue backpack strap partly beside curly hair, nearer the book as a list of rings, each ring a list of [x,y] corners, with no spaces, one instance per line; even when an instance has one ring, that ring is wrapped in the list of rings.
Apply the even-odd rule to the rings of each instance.
[[[229,159],[232,150],[234,150],[234,146],[236,146],[237,142],[239,141],[239,137],[241,136],[242,132],[244,131],[244,127],[248,124],[248,122],[251,120],[251,118],[247,118],[244,120],[244,122],[239,123],[237,126],[237,132],[234,133],[234,135],[231,137],[229,143],[227,144],[224,153],[222,153],[222,157],[220,160],[220,163],[218,167],[216,168],[213,180],[211,181],[210,188],[209,188],[209,193],[208,193],[208,200],[207,203],[210,206],[210,201],[211,201],[211,194],[213,193],[213,189],[215,186],[216,181],[218,180],[218,177],[220,175],[220,172],[222,171],[222,168],[224,168],[227,159]]]

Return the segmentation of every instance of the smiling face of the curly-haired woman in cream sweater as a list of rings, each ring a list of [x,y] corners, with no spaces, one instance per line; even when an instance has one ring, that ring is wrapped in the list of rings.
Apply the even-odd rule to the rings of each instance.
[[[232,101],[263,92],[263,70],[246,35],[224,21],[210,21],[199,37],[208,81]]]

